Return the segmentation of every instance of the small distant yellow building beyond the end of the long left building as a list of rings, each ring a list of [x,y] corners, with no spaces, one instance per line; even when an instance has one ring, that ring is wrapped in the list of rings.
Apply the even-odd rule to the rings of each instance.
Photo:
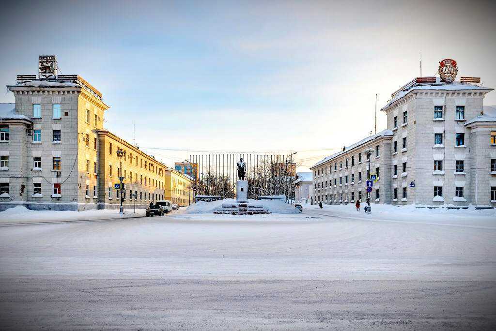
[[[165,200],[179,206],[189,206],[193,201],[191,190],[194,180],[174,169],[165,170]]]

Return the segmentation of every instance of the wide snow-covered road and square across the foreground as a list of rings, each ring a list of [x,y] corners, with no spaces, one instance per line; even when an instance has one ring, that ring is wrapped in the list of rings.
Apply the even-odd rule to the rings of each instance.
[[[306,210],[0,226],[0,326],[495,326],[493,218],[357,216]]]

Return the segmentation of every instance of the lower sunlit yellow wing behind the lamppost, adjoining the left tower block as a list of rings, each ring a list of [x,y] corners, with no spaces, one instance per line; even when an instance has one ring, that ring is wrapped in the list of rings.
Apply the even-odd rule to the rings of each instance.
[[[164,200],[166,165],[106,129],[98,130],[98,136],[100,143],[98,173],[101,175],[99,200],[102,203],[115,205],[112,206],[113,208],[120,204],[119,190],[114,189],[114,184],[119,183],[121,173],[121,160],[117,156],[119,149],[125,152],[122,158],[122,176],[125,178],[126,191],[124,205],[134,204],[134,198],[130,197],[130,194],[136,194],[136,206],[140,207],[148,206],[151,201]]]

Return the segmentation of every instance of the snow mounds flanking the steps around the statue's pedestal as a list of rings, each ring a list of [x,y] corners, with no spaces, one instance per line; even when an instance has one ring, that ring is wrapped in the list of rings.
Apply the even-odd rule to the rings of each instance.
[[[186,214],[208,214],[213,213],[223,204],[236,204],[236,199],[223,199],[218,201],[198,201],[186,209]],[[252,200],[248,199],[248,204],[262,205],[269,212],[274,214],[298,214],[300,211],[295,206],[286,204],[280,200]]]

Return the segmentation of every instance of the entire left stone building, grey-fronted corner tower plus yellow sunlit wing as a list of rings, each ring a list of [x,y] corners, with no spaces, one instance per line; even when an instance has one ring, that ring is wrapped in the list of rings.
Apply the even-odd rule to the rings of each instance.
[[[0,107],[0,210],[118,208],[118,149],[124,204],[131,192],[138,207],[163,199],[167,167],[103,128],[102,94],[78,75],[57,76],[55,57],[42,64],[52,74],[18,76],[7,86],[15,104]]]

